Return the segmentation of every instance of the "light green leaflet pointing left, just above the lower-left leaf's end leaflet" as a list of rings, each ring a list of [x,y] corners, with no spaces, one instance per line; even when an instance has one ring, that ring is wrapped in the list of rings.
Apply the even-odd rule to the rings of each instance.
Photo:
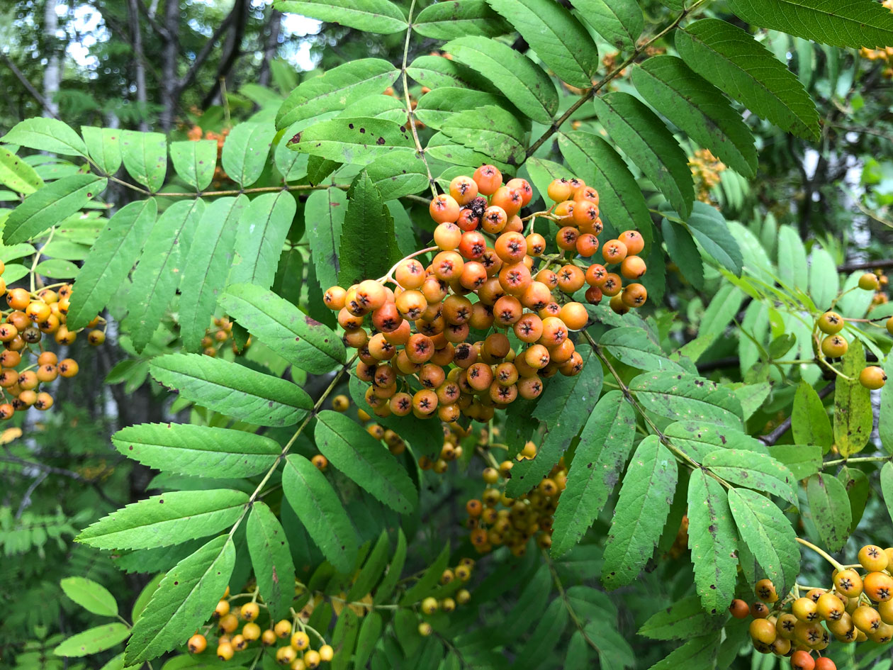
[[[121,507],[75,540],[96,549],[169,547],[231,526],[247,501],[239,490],[169,491]]]

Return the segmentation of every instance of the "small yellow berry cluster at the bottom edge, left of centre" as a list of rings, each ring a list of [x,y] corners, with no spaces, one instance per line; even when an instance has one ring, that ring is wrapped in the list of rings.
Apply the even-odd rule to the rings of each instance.
[[[290,670],[313,670],[335,656],[335,650],[329,644],[323,643],[319,649],[311,649],[307,631],[313,632],[320,641],[323,640],[318,632],[304,624],[300,616],[296,616],[293,621],[282,619],[275,624],[270,621],[268,627],[262,629],[257,619],[262,616],[262,608],[265,608],[263,604],[252,600],[238,610],[232,608],[233,599],[248,595],[251,594],[230,597],[230,590],[227,589],[214,609],[218,632],[215,655],[221,661],[229,661],[238,651],[248,649],[253,642],[258,642],[263,647],[274,647],[280,641],[287,641],[276,649],[276,660]],[[208,635],[212,628],[213,625],[208,625],[204,633],[196,632],[189,638],[187,647],[190,653],[201,654],[207,649]]]

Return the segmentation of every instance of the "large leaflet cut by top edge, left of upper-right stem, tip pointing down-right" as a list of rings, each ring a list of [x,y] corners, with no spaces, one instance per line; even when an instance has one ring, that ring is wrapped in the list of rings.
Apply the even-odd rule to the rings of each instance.
[[[552,0],[488,0],[527,40],[559,78],[580,88],[592,86],[598,49],[580,21]]]

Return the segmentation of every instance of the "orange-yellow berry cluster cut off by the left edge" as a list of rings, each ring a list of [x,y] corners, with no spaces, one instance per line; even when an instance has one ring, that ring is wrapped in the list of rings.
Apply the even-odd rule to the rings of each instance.
[[[0,275],[5,266],[0,261]],[[53,397],[40,390],[58,377],[73,377],[78,363],[72,358],[59,360],[52,351],[45,351],[44,335],[52,335],[59,345],[70,345],[79,331],[69,331],[65,325],[71,299],[71,285],[58,289],[46,288],[37,292],[28,289],[6,289],[0,278],[0,296],[6,296],[9,310],[3,312],[0,323],[0,420],[11,419],[16,411],[35,407],[46,410],[53,406]],[[100,316],[89,322],[87,340],[98,346],[105,341],[104,324]],[[34,359],[33,361],[31,359]]]

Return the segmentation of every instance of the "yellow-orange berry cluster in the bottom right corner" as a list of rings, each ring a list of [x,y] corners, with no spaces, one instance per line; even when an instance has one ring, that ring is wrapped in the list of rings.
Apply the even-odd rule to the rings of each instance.
[[[836,670],[821,654],[833,635],[841,642],[871,640],[885,644],[893,638],[893,547],[880,549],[870,544],[859,550],[859,563],[839,565],[832,574],[833,586],[809,589],[795,586],[779,600],[769,580],[756,583],[758,600],[752,605],[732,601],[732,616],[752,616],[750,637],[760,653],[790,657],[793,670]],[[859,574],[856,568],[864,569]],[[772,607],[772,608],[770,608]]]

